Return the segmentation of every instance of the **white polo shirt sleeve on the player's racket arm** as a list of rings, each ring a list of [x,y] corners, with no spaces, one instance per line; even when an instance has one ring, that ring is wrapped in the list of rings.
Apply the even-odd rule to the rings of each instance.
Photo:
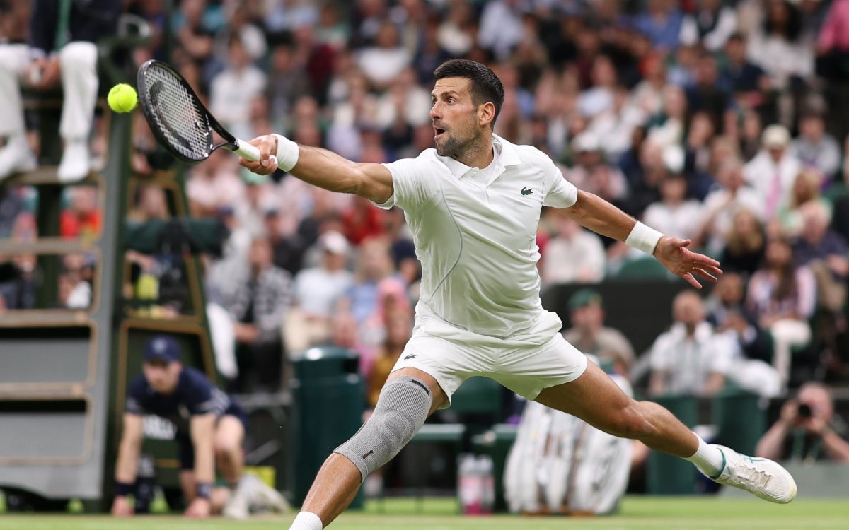
[[[421,209],[436,197],[438,183],[436,171],[430,160],[420,154],[415,159],[400,159],[384,164],[392,174],[392,196],[383,204],[374,203],[382,209],[398,206],[405,212]]]

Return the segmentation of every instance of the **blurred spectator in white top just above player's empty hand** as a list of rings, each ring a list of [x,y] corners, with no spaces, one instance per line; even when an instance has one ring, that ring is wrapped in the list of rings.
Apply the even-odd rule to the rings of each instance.
[[[661,201],[650,204],[643,214],[643,222],[665,234],[678,234],[689,239],[697,235],[701,218],[701,204],[685,200],[687,181],[680,173],[670,173],[661,181]]]

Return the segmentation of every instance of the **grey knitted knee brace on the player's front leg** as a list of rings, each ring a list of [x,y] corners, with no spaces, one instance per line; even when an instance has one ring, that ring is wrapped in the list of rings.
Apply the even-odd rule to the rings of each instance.
[[[380,392],[374,414],[334,453],[351,460],[365,480],[419,432],[432,403],[430,388],[424,382],[409,376],[392,379]]]

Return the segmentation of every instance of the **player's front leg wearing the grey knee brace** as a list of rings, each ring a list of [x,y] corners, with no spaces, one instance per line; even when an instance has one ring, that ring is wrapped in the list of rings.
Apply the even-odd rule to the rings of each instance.
[[[424,419],[446,402],[446,393],[430,374],[417,368],[393,371],[374,414],[324,461],[290,530],[329,525],[351,504],[368,472],[395,457]]]

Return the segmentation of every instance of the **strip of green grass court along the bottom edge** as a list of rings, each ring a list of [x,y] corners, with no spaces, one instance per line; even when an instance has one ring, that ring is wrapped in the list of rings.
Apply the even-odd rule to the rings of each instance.
[[[453,499],[425,499],[420,512],[413,499],[390,499],[384,512],[370,502],[349,511],[331,530],[845,530],[846,500],[796,500],[771,505],[756,499],[692,497],[628,497],[621,514],[610,517],[458,516]],[[191,521],[177,516],[115,519],[84,515],[0,515],[0,530],[286,530],[290,516],[257,516],[246,522],[211,519]]]

